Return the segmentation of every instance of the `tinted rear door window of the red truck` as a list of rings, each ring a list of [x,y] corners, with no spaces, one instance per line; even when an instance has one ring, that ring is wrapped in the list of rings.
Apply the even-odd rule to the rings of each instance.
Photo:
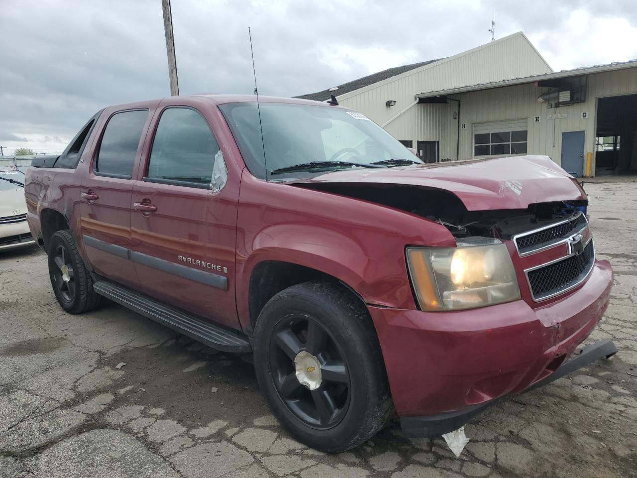
[[[141,131],[147,117],[148,110],[127,111],[111,116],[95,160],[98,173],[132,176]]]

